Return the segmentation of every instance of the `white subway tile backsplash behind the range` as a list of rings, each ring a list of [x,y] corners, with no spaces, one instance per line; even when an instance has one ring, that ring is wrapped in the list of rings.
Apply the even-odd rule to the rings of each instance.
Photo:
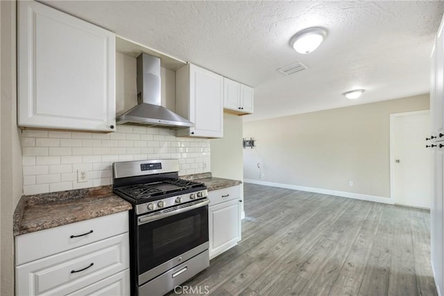
[[[179,175],[210,171],[210,140],[176,137],[175,130],[117,125],[117,132],[22,132],[24,194],[112,184],[112,163],[179,159]],[[77,171],[87,182],[77,182]]]

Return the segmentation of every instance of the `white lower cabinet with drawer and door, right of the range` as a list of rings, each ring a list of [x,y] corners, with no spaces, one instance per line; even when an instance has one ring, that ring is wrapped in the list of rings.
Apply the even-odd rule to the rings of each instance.
[[[210,259],[213,259],[241,240],[240,188],[210,191],[209,198]]]

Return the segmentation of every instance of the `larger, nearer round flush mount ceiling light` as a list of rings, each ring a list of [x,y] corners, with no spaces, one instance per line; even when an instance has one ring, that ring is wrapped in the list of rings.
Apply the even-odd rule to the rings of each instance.
[[[291,37],[290,45],[298,53],[311,53],[321,45],[326,36],[327,31],[324,28],[306,28]]]

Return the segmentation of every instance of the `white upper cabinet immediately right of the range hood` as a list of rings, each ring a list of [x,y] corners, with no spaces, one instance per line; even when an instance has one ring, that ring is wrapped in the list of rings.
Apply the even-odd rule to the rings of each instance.
[[[223,137],[223,77],[194,64],[178,69],[176,113],[194,123],[178,136]]]

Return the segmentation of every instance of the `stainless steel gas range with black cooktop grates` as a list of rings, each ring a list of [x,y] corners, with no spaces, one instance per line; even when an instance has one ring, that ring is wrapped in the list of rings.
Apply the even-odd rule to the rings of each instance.
[[[164,295],[210,265],[205,184],[177,159],[116,162],[113,191],[130,211],[131,295]]]

